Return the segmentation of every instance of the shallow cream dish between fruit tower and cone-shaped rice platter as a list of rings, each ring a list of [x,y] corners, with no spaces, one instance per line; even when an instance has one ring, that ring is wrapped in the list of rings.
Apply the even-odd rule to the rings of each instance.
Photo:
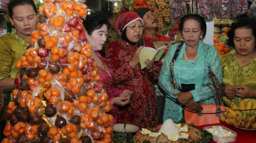
[[[124,123],[116,123],[113,125],[113,131],[114,132],[119,132],[119,133],[125,133],[126,132],[138,132],[140,130],[140,128],[136,125],[132,125],[132,124],[126,124],[125,126],[125,130],[124,130]]]

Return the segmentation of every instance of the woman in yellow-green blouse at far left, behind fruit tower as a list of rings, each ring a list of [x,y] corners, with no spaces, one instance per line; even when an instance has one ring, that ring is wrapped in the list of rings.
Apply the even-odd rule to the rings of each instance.
[[[37,9],[33,0],[11,0],[8,4],[9,19],[12,33],[0,37],[0,90],[10,92],[15,89],[14,80],[20,71],[15,67],[20,57],[30,45],[30,35],[37,27]],[[4,94],[3,94],[4,95]],[[6,97],[0,97],[2,102],[5,98],[5,106],[12,100],[7,93]],[[0,121],[5,119],[5,107],[0,115]],[[5,125],[5,123],[1,122]],[[1,128],[1,127],[0,127]],[[2,133],[2,131],[0,131]],[[1,137],[0,137],[1,140]]]

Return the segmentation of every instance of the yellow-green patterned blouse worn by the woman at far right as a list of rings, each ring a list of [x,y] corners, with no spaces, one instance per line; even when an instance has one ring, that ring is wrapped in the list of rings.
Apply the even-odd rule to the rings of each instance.
[[[256,58],[251,62],[240,66],[236,57],[236,50],[231,50],[226,55],[221,56],[221,64],[223,70],[223,85],[224,86],[240,86],[245,85],[251,89],[256,89]],[[235,105],[239,105],[241,98],[236,97],[234,99],[228,99],[226,96],[223,97],[223,102],[226,106],[230,107],[231,102]],[[244,99],[245,104],[249,101]],[[256,102],[253,99],[253,104]]]

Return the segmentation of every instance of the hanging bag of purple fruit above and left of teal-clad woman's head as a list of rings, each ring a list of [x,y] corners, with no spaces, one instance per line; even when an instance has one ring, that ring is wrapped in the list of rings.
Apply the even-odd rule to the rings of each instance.
[[[172,22],[177,22],[181,20],[181,18],[187,14],[186,3],[176,2],[175,0],[171,0],[169,7],[170,7]]]

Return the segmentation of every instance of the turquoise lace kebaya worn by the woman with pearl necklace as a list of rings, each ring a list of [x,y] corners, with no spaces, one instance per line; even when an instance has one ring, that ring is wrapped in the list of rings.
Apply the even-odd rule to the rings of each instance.
[[[169,65],[178,45],[179,44],[173,45],[168,50],[158,79],[161,88],[164,89],[168,96],[171,96],[174,99],[177,97],[174,97],[173,94],[180,93],[180,91],[172,87],[172,77]],[[209,67],[215,73],[220,84],[222,81],[221,62],[216,48],[199,41],[197,61],[193,62],[181,60],[185,49],[186,44],[184,43],[173,66],[174,78],[177,85],[181,87],[182,83],[195,84],[195,89],[190,91],[194,98],[194,102],[202,101],[202,104],[215,104],[211,90],[204,85],[211,83],[211,79],[209,78]],[[172,119],[175,122],[182,119],[182,107],[169,98],[166,98],[164,109],[164,121],[167,119]]]

